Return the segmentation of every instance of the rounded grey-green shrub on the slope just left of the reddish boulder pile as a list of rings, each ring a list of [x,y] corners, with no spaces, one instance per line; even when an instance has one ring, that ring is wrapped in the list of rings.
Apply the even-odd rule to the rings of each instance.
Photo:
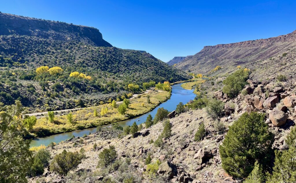
[[[207,107],[206,107],[207,114],[213,119],[217,119],[218,117],[221,117],[223,109],[224,109],[223,102],[217,100],[216,98],[213,98],[207,102]]]

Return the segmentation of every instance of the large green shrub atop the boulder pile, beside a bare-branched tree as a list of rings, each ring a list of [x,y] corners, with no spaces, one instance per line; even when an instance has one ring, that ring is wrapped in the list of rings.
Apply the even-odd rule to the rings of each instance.
[[[244,85],[247,84],[246,81],[249,79],[250,74],[250,69],[239,69],[230,76],[226,77],[223,81],[223,92],[231,98],[237,96],[244,88]]]

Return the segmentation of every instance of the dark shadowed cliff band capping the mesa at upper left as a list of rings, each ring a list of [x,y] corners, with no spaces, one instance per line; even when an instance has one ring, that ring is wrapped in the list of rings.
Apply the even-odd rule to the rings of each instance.
[[[27,35],[59,41],[83,41],[94,46],[112,46],[96,28],[65,22],[0,13],[1,35]]]

